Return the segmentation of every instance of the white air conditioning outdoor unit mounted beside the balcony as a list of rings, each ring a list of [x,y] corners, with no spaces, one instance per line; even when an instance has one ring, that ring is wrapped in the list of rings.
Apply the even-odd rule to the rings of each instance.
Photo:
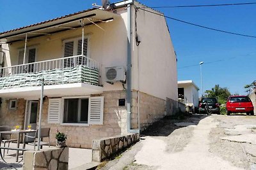
[[[116,81],[121,81],[122,83],[125,82],[125,67],[118,66],[118,67],[106,67],[106,81],[108,83],[115,83]]]

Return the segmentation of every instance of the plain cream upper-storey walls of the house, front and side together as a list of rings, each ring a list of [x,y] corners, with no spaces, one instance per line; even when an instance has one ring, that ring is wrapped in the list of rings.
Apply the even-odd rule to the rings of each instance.
[[[136,6],[140,4],[136,3]],[[119,10],[121,15],[113,22],[86,26],[84,34],[90,36],[90,57],[101,66],[104,91],[123,90],[122,83],[105,83],[105,67],[127,66],[127,10]],[[164,17],[138,11],[138,35],[141,44],[136,46],[134,6],[132,6],[132,89],[146,94],[177,101],[177,66],[172,40]],[[63,57],[63,40],[81,37],[81,29],[59,32],[40,38],[29,39],[28,47],[37,49],[36,61]],[[18,63],[18,52],[24,48],[24,41],[9,45],[11,60],[8,66]],[[126,85],[125,85],[126,87]]]

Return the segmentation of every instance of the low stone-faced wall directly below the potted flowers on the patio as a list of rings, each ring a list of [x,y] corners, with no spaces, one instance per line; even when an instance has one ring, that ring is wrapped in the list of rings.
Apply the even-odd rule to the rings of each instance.
[[[24,170],[68,169],[68,148],[49,148],[24,153]]]

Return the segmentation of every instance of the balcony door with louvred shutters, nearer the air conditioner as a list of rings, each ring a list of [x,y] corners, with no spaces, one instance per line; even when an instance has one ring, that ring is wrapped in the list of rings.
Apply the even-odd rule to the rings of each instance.
[[[89,57],[89,38],[84,38],[83,43],[83,57],[77,57],[76,60],[73,59],[65,59],[64,67],[73,67],[76,64],[86,64],[86,58]],[[75,55],[82,55],[82,38],[73,38],[67,39],[63,41],[63,56],[64,57],[72,57]]]

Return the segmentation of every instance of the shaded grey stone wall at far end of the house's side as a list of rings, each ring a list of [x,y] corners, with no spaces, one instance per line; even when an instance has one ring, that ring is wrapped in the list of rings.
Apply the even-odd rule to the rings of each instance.
[[[173,99],[166,98],[166,115],[172,116],[186,112],[186,105]]]

